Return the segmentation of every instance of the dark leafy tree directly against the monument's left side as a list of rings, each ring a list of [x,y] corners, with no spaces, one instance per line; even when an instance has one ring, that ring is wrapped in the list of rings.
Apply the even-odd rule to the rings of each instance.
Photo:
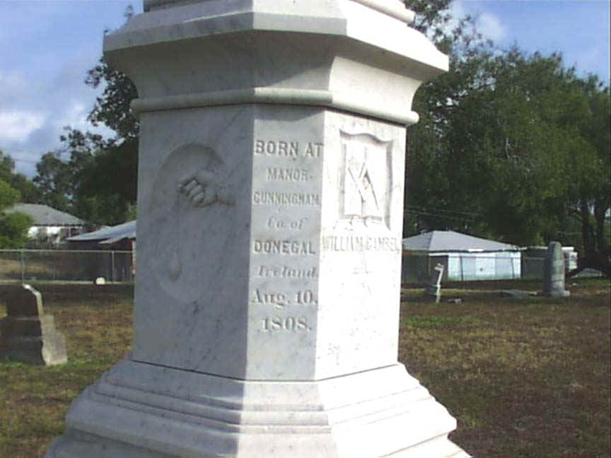
[[[133,14],[128,7],[127,20]],[[88,71],[86,84],[103,86],[88,120],[116,132],[103,139],[66,128],[59,151],[47,153],[37,166],[35,182],[45,201],[54,202],[91,223],[117,224],[133,218],[138,175],[139,123],[130,108],[137,97],[132,81],[100,59]],[[62,159],[66,157],[66,159]]]

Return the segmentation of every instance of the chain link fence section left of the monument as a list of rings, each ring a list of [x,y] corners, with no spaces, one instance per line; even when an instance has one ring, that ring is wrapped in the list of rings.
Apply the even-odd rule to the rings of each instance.
[[[131,251],[70,249],[0,249],[0,282],[134,281]]]

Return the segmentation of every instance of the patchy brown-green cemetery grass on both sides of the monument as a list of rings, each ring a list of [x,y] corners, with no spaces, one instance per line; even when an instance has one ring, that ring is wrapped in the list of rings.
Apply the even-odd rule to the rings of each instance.
[[[451,287],[437,305],[421,289],[402,290],[399,355],[458,419],[451,438],[476,458],[607,458],[610,281],[569,281],[566,299],[496,292],[540,282]],[[129,351],[132,288],[38,288],[66,335],[69,364],[0,362],[0,458],[42,456],[72,399]]]

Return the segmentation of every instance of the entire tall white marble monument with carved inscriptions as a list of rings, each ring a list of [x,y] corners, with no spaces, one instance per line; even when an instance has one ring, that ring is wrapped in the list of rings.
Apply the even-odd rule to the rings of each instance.
[[[132,353],[47,458],[467,457],[397,363],[405,126],[448,59],[399,0],[145,0]]]

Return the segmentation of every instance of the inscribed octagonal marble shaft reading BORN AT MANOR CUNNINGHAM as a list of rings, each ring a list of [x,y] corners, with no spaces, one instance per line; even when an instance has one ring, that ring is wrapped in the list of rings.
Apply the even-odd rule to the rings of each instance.
[[[141,126],[134,360],[274,380],[396,362],[403,128],[266,105]],[[231,203],[177,192],[202,169]]]

